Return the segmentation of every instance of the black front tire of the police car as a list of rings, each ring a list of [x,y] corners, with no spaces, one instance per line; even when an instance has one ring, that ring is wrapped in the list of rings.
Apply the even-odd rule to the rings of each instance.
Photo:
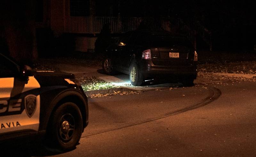
[[[67,116],[66,119],[65,116]],[[69,123],[70,128],[73,127],[72,129],[74,129],[73,133],[71,131],[70,139],[67,139],[67,137],[63,135],[63,131],[61,131],[63,123],[66,122]],[[48,128],[50,136],[48,136],[47,140],[48,144],[50,144],[49,146],[64,152],[74,149],[83,132],[82,114],[78,106],[72,102],[63,103],[54,111],[50,123],[51,127]],[[66,129],[67,128],[68,126]]]

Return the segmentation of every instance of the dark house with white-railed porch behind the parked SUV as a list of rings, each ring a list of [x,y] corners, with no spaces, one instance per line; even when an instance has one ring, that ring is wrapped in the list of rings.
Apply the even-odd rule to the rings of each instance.
[[[94,43],[104,25],[108,24],[112,36],[131,30],[136,30],[142,21],[155,24],[154,29],[170,30],[168,19],[141,17],[121,17],[121,2],[117,0],[37,0],[36,28],[39,40],[52,31],[52,36],[58,38],[63,34],[74,39],[76,51],[91,52]],[[160,26],[159,26],[160,25]],[[44,31],[42,31],[44,30]],[[41,35],[40,35],[41,31]],[[49,32],[48,32],[49,33]],[[43,37],[44,44],[47,37]],[[45,47],[41,45],[41,47]],[[39,44],[40,49],[40,44]]]

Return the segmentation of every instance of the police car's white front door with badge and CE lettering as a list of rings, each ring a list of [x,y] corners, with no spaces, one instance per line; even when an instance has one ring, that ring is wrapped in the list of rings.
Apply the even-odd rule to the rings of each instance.
[[[0,133],[39,128],[40,85],[33,76],[22,78],[19,71],[0,54]]]

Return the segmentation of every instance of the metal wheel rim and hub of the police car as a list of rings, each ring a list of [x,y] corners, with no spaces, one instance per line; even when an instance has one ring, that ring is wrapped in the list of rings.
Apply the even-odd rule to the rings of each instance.
[[[62,141],[69,141],[75,131],[75,119],[71,114],[65,114],[60,118],[60,138]]]

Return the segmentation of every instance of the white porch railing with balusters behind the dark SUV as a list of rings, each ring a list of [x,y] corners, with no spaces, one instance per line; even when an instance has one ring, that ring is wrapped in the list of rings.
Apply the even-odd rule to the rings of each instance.
[[[141,22],[150,23],[151,29],[170,31],[169,20],[154,18],[117,18],[117,17],[68,17],[65,22],[65,32],[70,33],[100,33],[108,24],[111,33],[123,33],[139,28]]]

